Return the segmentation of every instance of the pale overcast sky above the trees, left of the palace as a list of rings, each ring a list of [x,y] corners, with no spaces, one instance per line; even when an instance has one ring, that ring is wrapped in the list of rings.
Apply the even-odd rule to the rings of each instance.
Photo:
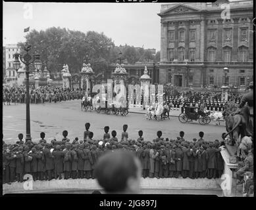
[[[3,46],[24,42],[24,28],[29,26],[38,31],[59,26],[84,33],[103,32],[117,46],[160,51],[160,9],[161,3],[3,2]]]

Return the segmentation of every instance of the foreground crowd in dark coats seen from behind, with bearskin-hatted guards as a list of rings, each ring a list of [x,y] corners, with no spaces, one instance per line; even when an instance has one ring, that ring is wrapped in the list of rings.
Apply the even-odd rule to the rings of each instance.
[[[127,125],[125,127],[127,129]],[[38,143],[23,142],[20,134],[16,144],[3,144],[4,183],[22,182],[25,174],[32,175],[34,180],[63,179],[63,174],[64,179],[94,179],[97,159],[116,149],[129,150],[140,159],[144,178],[215,179],[222,175],[220,142],[203,140],[203,132],[199,133],[198,140],[188,141],[182,131],[180,137],[172,140],[164,140],[158,131],[157,138],[150,142],[143,139],[143,131],[139,131],[138,140],[128,140],[128,133],[124,131],[122,140],[118,141],[116,132],[112,131],[110,138],[108,130],[109,127],[105,127],[103,135],[107,138],[93,140],[93,133],[87,129],[84,140],[75,138],[72,143],[67,131],[63,131],[63,140],[51,140],[51,143],[46,142],[45,133],[40,134]]]

